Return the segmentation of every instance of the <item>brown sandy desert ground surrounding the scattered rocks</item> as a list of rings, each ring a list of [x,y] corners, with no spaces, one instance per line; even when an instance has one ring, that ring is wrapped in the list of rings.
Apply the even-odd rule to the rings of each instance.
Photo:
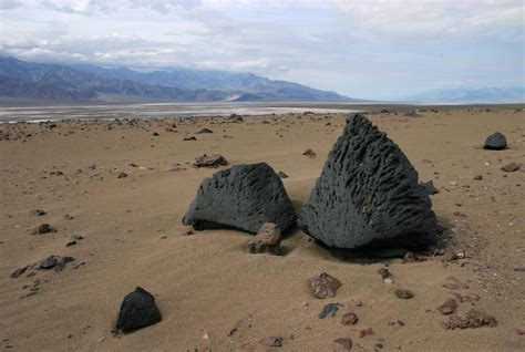
[[[266,162],[284,170],[299,210],[342,131],[343,115],[256,116],[235,124],[200,118],[0,126],[10,135],[0,142],[0,348],[332,351],[334,339],[349,338],[352,351],[523,351],[525,335],[514,328],[525,324],[525,272],[519,271],[525,266],[525,113],[462,107],[421,114],[369,116],[400,145],[422,180],[434,180],[440,194],[432,196],[433,209],[452,236],[444,250],[464,250],[465,259],[343,261],[300,230],[286,237],[288,253],[280,257],[248,253],[251,236],[240,231],[182,236],[188,228],[181,219],[198,185],[216,172],[191,167],[196,156],[220,153],[231,165]],[[214,133],[183,141],[200,126]],[[496,131],[511,148],[482,149]],[[307,148],[317,158],[301,155]],[[500,169],[509,162],[522,169]],[[169,170],[175,164],[185,169]],[[121,172],[128,176],[117,178]],[[478,175],[483,179],[474,179]],[[34,208],[47,215],[29,216]],[[42,222],[58,231],[32,236]],[[65,247],[72,236],[83,239]],[[10,278],[51,255],[75,261],[61,272]],[[385,265],[393,283],[378,273]],[[342,282],[334,298],[310,293],[308,279],[321,271]],[[469,289],[443,287],[451,276]],[[155,296],[163,321],[114,337],[122,299],[136,286]],[[415,296],[400,300],[397,288]],[[478,294],[475,308],[494,315],[497,327],[444,330],[447,317],[436,307],[452,292]],[[329,302],[344,307],[336,318],[319,319]],[[471,308],[460,303],[460,315]],[[359,322],[344,327],[341,317],[350,311]],[[359,338],[367,328],[373,334]],[[265,348],[259,340],[266,337],[282,337],[282,348]]]

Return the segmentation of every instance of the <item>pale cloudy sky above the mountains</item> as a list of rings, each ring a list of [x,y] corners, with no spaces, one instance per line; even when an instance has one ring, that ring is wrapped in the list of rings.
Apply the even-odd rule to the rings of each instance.
[[[524,0],[0,0],[0,55],[251,72],[352,97],[525,85]]]

